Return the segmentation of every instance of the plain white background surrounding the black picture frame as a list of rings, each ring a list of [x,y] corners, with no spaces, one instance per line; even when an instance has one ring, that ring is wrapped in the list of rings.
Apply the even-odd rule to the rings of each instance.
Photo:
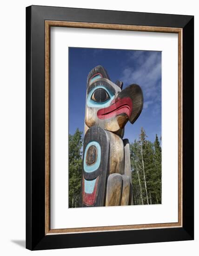
[[[113,5],[114,3],[114,5]],[[197,1],[3,1],[0,7],[0,254],[7,255],[198,255],[199,225],[195,218],[195,241],[120,245],[98,248],[60,249],[30,252],[25,247],[25,7],[31,4],[135,12],[195,15],[195,40],[198,39]],[[195,43],[196,45],[196,43]],[[195,107],[198,107],[195,49]],[[198,109],[195,111],[197,117]],[[195,121],[195,131],[198,128]],[[198,136],[195,135],[195,149]],[[195,150],[195,216],[198,215],[198,160]]]

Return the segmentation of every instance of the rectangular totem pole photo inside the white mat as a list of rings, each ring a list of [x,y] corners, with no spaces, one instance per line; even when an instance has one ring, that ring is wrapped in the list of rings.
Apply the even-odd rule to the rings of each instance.
[[[68,56],[69,208],[161,204],[161,51]]]

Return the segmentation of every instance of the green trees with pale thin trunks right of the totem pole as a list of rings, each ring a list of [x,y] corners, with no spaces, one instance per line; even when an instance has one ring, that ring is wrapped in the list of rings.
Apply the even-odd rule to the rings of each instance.
[[[161,147],[146,140],[143,128],[139,140],[130,145],[132,165],[133,204],[161,203]]]

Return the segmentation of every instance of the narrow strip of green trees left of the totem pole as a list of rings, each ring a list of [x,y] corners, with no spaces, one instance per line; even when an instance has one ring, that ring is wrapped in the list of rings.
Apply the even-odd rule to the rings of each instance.
[[[82,132],[69,134],[69,208],[79,207],[82,171]]]

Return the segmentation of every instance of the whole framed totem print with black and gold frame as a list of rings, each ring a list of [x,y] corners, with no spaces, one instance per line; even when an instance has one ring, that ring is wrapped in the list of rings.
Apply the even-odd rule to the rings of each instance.
[[[193,16],[26,11],[27,249],[192,240]]]

